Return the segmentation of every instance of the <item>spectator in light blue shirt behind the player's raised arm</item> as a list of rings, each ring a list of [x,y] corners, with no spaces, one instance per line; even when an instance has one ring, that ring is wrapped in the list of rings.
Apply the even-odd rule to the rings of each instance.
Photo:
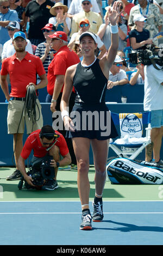
[[[121,5],[122,6],[122,5]],[[99,38],[104,42],[104,45],[106,47],[106,50],[109,49],[111,45],[111,32],[110,32],[110,24],[108,19],[108,7],[106,9],[106,14],[104,16],[104,21],[97,32],[97,35],[99,35]],[[122,23],[121,16],[117,20],[118,25],[118,35],[119,35],[119,45],[118,50],[123,50],[125,47],[125,41],[127,36],[127,26]]]

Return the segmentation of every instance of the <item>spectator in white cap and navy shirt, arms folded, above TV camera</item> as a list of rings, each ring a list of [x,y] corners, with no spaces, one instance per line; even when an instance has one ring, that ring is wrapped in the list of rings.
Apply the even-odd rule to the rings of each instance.
[[[146,45],[150,45],[153,42],[153,39],[149,38],[148,29],[143,28],[146,20],[141,14],[135,14],[134,16],[135,28],[131,29],[129,33],[130,45],[133,50],[146,48]]]

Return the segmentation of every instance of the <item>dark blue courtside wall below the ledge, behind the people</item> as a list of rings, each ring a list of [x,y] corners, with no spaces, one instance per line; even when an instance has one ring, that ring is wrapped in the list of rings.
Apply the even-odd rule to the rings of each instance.
[[[42,115],[43,115],[43,125],[49,124],[52,125],[52,112],[50,110],[50,103],[41,103],[42,106]],[[143,104],[142,103],[107,103],[110,111],[115,113],[135,113],[135,112],[143,112]],[[8,135],[7,133],[7,110],[8,103],[0,103],[0,117],[1,117],[1,125],[0,125],[0,133],[1,133],[1,151],[0,151],[0,166],[14,166],[14,162],[12,161],[13,156],[13,138],[12,135]],[[25,131],[23,141],[25,142],[27,138],[27,133]],[[161,148],[161,155],[163,155],[163,147]],[[115,156],[114,151],[109,149],[109,157]],[[29,157],[29,162],[32,157],[32,154]],[[145,151],[143,151],[139,155],[140,160],[145,159]],[[26,161],[26,164],[28,162]],[[93,164],[93,156],[92,150],[90,149],[90,164]]]

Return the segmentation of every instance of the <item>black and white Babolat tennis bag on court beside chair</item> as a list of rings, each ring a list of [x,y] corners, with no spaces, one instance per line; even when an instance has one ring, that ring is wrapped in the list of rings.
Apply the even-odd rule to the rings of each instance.
[[[116,157],[108,162],[106,172],[112,184],[163,184],[163,169],[156,163]]]

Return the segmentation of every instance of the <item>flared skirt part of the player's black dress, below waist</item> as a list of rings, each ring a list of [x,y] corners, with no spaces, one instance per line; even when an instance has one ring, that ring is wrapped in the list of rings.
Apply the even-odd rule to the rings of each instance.
[[[67,131],[67,138],[84,137],[102,141],[118,136],[105,103],[91,105],[75,103],[70,118],[72,118],[76,130],[74,132]]]

